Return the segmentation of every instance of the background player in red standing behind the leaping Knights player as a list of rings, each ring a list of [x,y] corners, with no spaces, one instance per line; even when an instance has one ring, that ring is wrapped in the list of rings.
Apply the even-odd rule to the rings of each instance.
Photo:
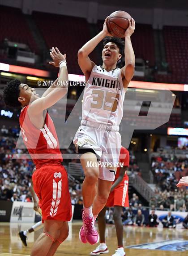
[[[115,230],[118,242],[118,248],[115,254],[112,256],[125,256],[123,246],[123,223],[121,219],[121,213],[123,207],[129,207],[128,201],[128,175],[126,171],[129,166],[129,152],[126,148],[121,147],[120,150],[120,163],[124,164],[124,167],[118,167],[115,175],[115,180],[111,187],[111,193],[108,197],[107,204],[98,215],[98,229],[100,235],[99,246],[90,253],[90,255],[100,255],[108,253],[107,244],[105,242],[105,213],[107,207],[114,207],[113,218],[115,222]]]

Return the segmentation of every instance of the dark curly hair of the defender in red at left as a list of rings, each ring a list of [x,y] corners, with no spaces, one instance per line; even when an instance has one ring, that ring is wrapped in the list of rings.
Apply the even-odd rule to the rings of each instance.
[[[21,103],[18,101],[18,97],[20,96],[20,88],[19,85],[21,81],[18,79],[11,80],[7,86],[3,90],[3,99],[4,103],[13,108],[21,107]]]

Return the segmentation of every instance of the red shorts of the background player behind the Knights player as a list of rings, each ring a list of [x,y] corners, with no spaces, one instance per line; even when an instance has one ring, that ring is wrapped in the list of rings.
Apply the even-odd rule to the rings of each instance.
[[[128,180],[123,180],[110,194],[106,207],[122,206],[129,207]]]

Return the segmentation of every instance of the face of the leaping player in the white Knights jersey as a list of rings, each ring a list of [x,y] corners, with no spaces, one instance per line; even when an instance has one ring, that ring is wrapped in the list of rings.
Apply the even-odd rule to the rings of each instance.
[[[118,62],[121,58],[121,54],[119,52],[119,48],[115,43],[109,42],[104,45],[102,51],[102,59],[103,63],[107,65],[113,65]]]

